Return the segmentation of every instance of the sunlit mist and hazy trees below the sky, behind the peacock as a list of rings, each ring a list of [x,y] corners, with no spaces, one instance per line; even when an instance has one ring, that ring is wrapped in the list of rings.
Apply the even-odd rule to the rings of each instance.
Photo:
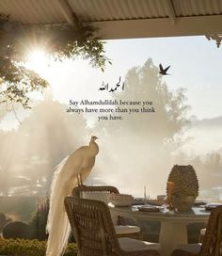
[[[112,97],[152,102],[154,113],[98,121],[96,115],[67,113],[67,105],[52,97],[37,102],[17,129],[0,132],[0,194],[47,195],[56,165],[95,135],[100,152],[86,184],[115,185],[135,197],[143,197],[146,186],[155,198],[166,194],[173,165],[193,165],[199,196],[221,200],[220,123],[188,117],[185,88],[171,91],[158,72],[148,59],[127,72],[125,89]]]

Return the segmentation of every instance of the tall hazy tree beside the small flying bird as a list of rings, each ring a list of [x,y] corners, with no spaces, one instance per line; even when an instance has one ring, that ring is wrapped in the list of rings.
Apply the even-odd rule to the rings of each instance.
[[[181,141],[178,141],[176,135],[180,134],[189,120],[186,113],[189,106],[186,104],[185,90],[179,88],[171,91],[159,74],[159,68],[156,67],[151,58],[143,66],[134,67],[126,73],[125,89],[121,93],[113,93],[113,100],[133,101],[133,102],[151,102],[145,104],[145,108],[153,107],[154,113],[136,113],[124,115],[124,120],[119,122],[102,123],[107,131],[113,134],[121,133],[123,130],[131,131],[140,136],[149,137],[163,145],[163,143],[172,142],[175,147]],[[133,109],[143,107],[137,105],[120,105],[121,108]],[[100,126],[100,122],[98,123]],[[99,129],[98,129],[99,130]],[[179,139],[180,140],[180,139]]]

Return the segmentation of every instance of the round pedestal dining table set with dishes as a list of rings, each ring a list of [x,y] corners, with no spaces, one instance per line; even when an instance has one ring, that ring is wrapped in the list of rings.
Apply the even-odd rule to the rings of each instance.
[[[151,209],[147,211],[146,206],[119,207],[109,204],[109,209],[114,218],[125,216],[147,221],[159,221],[161,223],[159,233],[161,256],[170,256],[173,249],[178,245],[188,243],[187,224],[207,223],[210,216],[210,211],[201,206],[194,206],[186,212],[168,210],[165,206],[156,208],[157,211],[150,211]]]

